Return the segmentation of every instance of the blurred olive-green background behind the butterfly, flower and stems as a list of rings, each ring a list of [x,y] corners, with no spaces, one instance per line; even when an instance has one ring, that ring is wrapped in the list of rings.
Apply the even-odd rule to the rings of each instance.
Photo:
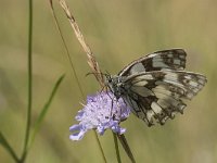
[[[138,163],[217,162],[217,1],[215,0],[71,0],[68,1],[102,71],[117,73],[146,53],[183,48],[187,70],[207,76],[208,83],[184,115],[152,128],[130,116],[123,127]],[[55,11],[86,95],[99,90],[87,58],[62,9]],[[27,104],[26,0],[0,1],[0,129],[21,154]],[[56,78],[66,73],[27,156],[28,163],[102,162],[93,133],[79,142],[68,139],[68,127],[84,101],[48,0],[34,1],[34,108],[37,117]],[[113,136],[100,137],[108,162],[116,162]],[[120,148],[123,162],[129,162]],[[0,162],[13,160],[0,147]]]

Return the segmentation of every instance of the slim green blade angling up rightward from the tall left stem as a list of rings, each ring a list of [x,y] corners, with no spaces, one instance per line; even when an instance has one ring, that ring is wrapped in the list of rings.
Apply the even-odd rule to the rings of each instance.
[[[53,87],[53,90],[52,90],[52,92],[51,92],[51,95],[50,95],[48,101],[47,101],[46,104],[43,105],[43,108],[42,108],[42,110],[41,110],[41,112],[40,112],[38,118],[36,120],[36,123],[35,123],[35,126],[34,126],[34,130],[33,130],[33,134],[31,134],[31,137],[30,137],[30,142],[29,142],[29,145],[28,145],[28,148],[30,148],[30,146],[33,145],[33,141],[34,141],[35,137],[36,137],[36,134],[37,134],[37,133],[39,131],[39,129],[40,129],[41,123],[42,123],[42,121],[43,121],[46,114],[48,113],[48,109],[50,108],[50,104],[51,104],[51,102],[52,102],[52,100],[53,100],[53,97],[54,97],[54,95],[55,95],[55,92],[56,92],[56,90],[58,90],[60,84],[62,83],[64,76],[65,76],[65,75],[62,75],[62,76],[58,79],[58,82],[55,83],[55,85],[54,85],[54,87]]]

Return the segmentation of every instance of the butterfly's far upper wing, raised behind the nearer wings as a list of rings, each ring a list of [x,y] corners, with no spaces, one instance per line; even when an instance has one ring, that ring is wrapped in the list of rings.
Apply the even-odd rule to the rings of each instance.
[[[187,53],[183,49],[156,51],[142,57],[119,72],[118,76],[129,76],[135,73],[161,71],[163,68],[181,71],[186,67]]]

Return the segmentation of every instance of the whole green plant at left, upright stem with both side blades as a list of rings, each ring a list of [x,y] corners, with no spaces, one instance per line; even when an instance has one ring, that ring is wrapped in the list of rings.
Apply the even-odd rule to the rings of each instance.
[[[16,155],[16,153],[14,152],[14,149],[12,148],[12,146],[9,145],[8,139],[5,138],[5,136],[3,136],[3,134],[0,131],[0,145],[2,145],[2,147],[9,152],[9,154],[13,158],[13,160],[16,163],[24,163],[26,160],[26,155],[29,152],[29,147],[34,141],[34,138],[36,136],[36,134],[39,131],[39,127],[41,126],[41,123],[48,112],[48,109],[50,108],[50,104],[53,100],[53,97],[61,84],[61,82],[64,78],[64,75],[62,75],[59,80],[56,82],[56,84],[54,85],[54,88],[50,95],[49,100],[46,102],[43,109],[41,110],[40,115],[38,116],[35,127],[34,127],[34,131],[33,131],[33,136],[31,136],[31,141],[29,142],[29,133],[30,133],[30,124],[31,124],[31,101],[33,101],[33,1],[29,0],[29,21],[28,21],[28,106],[27,106],[27,122],[26,122],[26,134],[25,134],[25,138],[24,138],[24,149],[22,151],[22,156],[18,158]],[[29,146],[28,146],[29,145]]]

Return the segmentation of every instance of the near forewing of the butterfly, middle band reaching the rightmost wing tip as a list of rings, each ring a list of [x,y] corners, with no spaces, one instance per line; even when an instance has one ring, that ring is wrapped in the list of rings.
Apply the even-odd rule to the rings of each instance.
[[[142,86],[151,90],[161,85],[174,93],[179,93],[180,98],[191,100],[204,87],[206,78],[196,73],[167,70],[131,75],[125,83],[125,85]]]

